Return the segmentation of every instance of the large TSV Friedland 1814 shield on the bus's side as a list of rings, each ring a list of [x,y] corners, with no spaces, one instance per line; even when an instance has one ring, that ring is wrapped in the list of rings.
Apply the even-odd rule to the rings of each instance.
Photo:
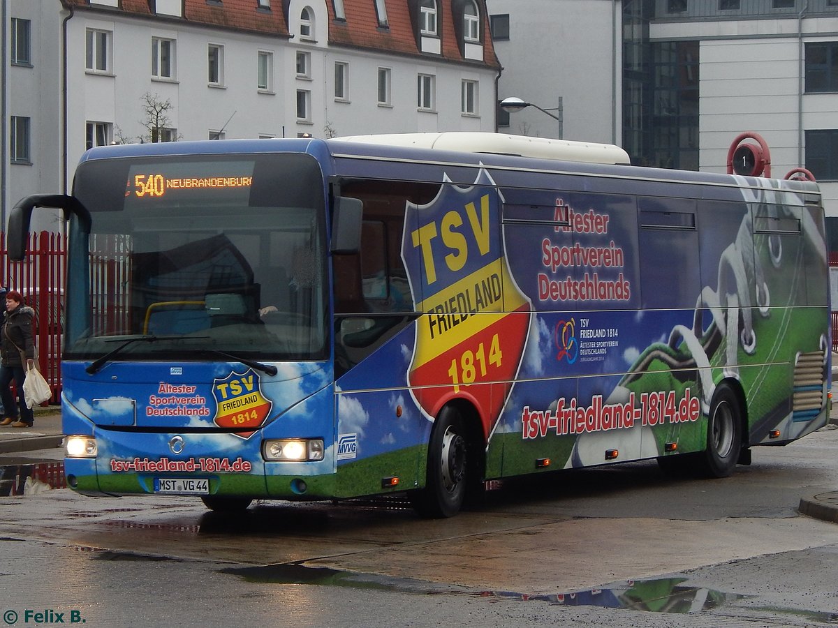
[[[469,399],[491,435],[520,367],[531,306],[506,261],[503,198],[489,172],[481,168],[471,188],[449,181],[431,203],[406,206],[401,256],[425,314],[407,378],[427,414]]]

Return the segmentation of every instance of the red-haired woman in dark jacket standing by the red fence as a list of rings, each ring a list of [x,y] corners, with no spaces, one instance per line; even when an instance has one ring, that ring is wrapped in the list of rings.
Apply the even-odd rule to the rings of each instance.
[[[30,363],[34,366],[35,342],[32,334],[34,315],[35,311],[31,307],[23,305],[23,296],[20,292],[14,290],[6,292],[6,315],[3,327],[0,327],[0,358],[3,358],[3,366],[0,366],[0,398],[3,399],[5,416],[0,421],[0,425],[32,427],[34,423],[34,414],[31,408],[26,407],[26,399],[23,395],[26,367]],[[12,390],[9,388],[13,379],[15,388],[18,389],[19,419]]]

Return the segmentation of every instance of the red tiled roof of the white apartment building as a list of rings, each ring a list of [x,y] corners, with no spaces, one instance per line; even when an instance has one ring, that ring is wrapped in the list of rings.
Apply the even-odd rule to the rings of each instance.
[[[411,21],[411,7],[418,3],[411,0],[385,0],[387,9],[387,27],[380,28],[375,13],[375,0],[344,0],[346,20],[334,18],[334,6],[326,0],[328,8],[329,44],[350,46],[359,49],[380,50],[395,54],[410,54],[427,58],[442,58],[468,64],[479,64],[472,59],[464,59],[463,52],[454,28],[455,0],[437,0],[437,23],[441,35],[441,54],[422,54],[414,30],[416,16]],[[63,0],[75,7],[89,7],[89,0]],[[184,0],[184,21],[201,23],[221,28],[235,28],[256,33],[272,33],[287,36],[287,16],[282,0],[274,0],[272,10],[258,9],[256,0],[222,0],[220,3],[207,0]],[[499,68],[500,62],[494,53],[494,45],[489,34],[489,13],[485,0],[478,0],[483,18],[483,46],[485,65]],[[95,5],[94,5],[95,6]],[[153,15],[149,0],[122,0],[119,10],[124,13]]]

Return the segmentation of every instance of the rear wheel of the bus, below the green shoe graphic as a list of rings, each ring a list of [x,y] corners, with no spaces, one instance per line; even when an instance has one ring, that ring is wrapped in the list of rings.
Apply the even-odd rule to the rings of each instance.
[[[722,383],[713,395],[707,421],[707,447],[701,471],[709,477],[730,476],[742,449],[742,409],[734,390]]]

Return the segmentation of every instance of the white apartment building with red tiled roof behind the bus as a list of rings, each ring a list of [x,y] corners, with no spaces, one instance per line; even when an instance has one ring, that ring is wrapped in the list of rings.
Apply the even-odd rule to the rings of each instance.
[[[86,148],[111,142],[495,128],[500,65],[484,0],[4,0],[0,10],[3,225],[24,195],[69,192]],[[57,229],[43,220],[34,229]]]

